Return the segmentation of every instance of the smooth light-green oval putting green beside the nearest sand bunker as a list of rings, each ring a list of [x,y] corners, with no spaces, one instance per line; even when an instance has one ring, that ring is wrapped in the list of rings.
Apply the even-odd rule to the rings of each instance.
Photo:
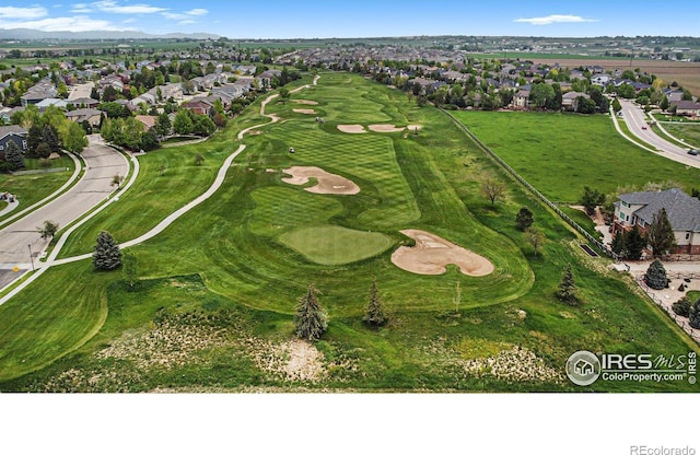
[[[280,235],[280,242],[308,260],[324,266],[355,262],[384,253],[392,238],[377,232],[341,226],[302,228]]]

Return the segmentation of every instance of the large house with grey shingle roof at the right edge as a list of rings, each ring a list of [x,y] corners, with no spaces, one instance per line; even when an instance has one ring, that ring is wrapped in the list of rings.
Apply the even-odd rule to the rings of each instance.
[[[662,208],[676,235],[678,249],[674,253],[700,254],[700,200],[676,188],[620,195],[615,203],[612,235],[630,231],[634,225],[644,235]]]

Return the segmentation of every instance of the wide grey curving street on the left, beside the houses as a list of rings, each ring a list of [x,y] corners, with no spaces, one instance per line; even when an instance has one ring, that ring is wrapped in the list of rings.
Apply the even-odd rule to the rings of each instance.
[[[70,224],[107,198],[115,189],[110,185],[115,174],[127,175],[129,163],[121,154],[104,145],[100,137],[89,138],[90,145],[81,154],[86,166],[83,177],[51,202],[0,230],[0,269],[31,268],[30,249],[36,260],[48,245],[37,232],[44,221],[57,222],[59,229]]]

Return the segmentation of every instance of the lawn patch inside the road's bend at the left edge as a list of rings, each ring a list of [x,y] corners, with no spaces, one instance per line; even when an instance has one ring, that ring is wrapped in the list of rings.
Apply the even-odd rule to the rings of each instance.
[[[27,167],[38,168],[37,161],[38,160],[26,160]],[[63,186],[75,170],[73,160],[65,155],[58,160],[52,160],[51,167],[62,167],[67,168],[67,171],[30,175],[0,174],[0,192],[11,192],[18,197],[18,200],[20,200],[18,211],[27,208]],[[0,220],[11,217],[12,214],[14,214],[14,211],[4,217],[0,217]]]

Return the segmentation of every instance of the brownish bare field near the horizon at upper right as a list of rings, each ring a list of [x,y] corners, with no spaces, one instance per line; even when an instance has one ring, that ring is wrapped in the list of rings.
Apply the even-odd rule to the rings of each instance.
[[[679,85],[688,89],[693,95],[700,96],[700,62],[690,61],[669,61],[669,60],[632,60],[630,59],[568,59],[565,57],[555,58],[540,56],[537,58],[528,58],[535,63],[559,63],[564,67],[578,68],[586,65],[598,65],[606,71],[621,69],[639,68],[643,72],[656,74],[666,85],[670,85],[674,81]]]

